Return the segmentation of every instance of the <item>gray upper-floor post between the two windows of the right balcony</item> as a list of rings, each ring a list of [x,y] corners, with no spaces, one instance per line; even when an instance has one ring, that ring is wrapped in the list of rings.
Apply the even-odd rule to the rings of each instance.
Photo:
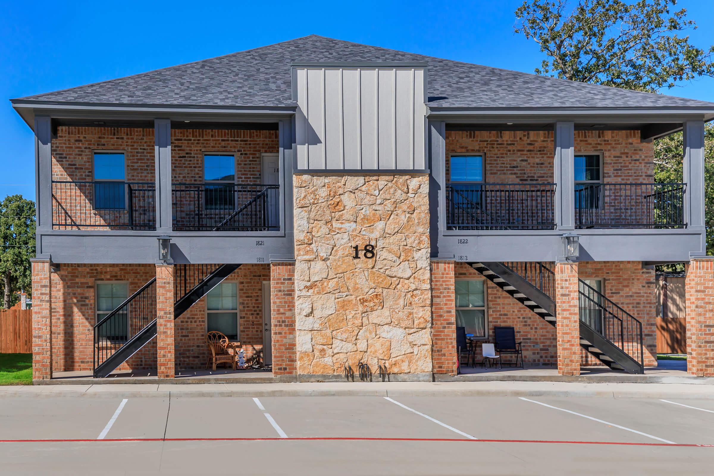
[[[575,124],[556,122],[553,135],[555,223],[558,230],[575,229]]]

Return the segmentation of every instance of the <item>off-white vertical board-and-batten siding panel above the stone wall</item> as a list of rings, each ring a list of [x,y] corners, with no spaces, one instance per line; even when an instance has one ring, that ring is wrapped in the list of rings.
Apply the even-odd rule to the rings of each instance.
[[[300,170],[426,170],[426,64],[293,64]]]

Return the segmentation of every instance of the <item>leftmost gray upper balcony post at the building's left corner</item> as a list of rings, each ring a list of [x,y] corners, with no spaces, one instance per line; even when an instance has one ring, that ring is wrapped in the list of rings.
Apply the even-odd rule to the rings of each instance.
[[[35,116],[35,197],[37,231],[52,229],[51,145],[51,118],[49,118],[49,116]],[[37,244],[40,245],[40,240],[37,240]],[[38,253],[40,253],[39,249]]]

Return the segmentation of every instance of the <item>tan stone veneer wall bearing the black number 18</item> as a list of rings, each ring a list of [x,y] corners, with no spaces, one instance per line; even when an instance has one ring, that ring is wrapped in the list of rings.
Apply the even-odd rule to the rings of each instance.
[[[428,176],[299,174],[294,199],[298,373],[431,373]]]

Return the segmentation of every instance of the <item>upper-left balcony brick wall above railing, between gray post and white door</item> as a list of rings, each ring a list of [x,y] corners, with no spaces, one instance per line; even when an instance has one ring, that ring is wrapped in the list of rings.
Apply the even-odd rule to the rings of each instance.
[[[237,183],[261,183],[261,153],[278,153],[278,131],[171,129],[171,180],[203,183],[203,153],[236,155]]]

